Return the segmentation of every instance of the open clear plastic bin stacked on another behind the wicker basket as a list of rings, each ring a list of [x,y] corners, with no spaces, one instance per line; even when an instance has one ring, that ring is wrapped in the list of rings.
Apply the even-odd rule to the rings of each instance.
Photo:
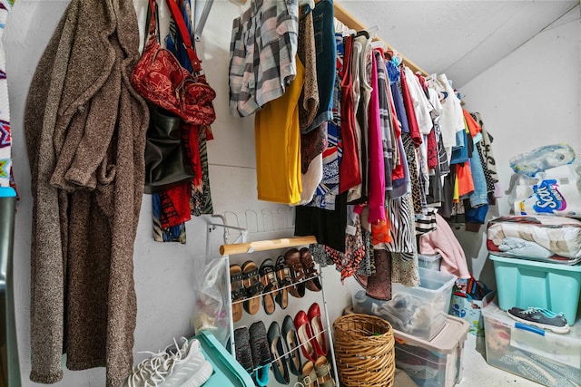
[[[349,278],[353,311],[377,315],[399,332],[431,340],[446,324],[456,276],[419,267],[419,280],[419,286],[392,284],[391,300],[382,301]]]

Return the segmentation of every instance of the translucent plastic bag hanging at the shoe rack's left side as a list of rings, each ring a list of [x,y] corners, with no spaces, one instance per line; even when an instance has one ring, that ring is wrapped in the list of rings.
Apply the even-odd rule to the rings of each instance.
[[[210,331],[224,345],[228,340],[230,321],[227,264],[226,259],[212,259],[206,264],[203,275],[196,278],[196,307],[192,314],[196,334]]]

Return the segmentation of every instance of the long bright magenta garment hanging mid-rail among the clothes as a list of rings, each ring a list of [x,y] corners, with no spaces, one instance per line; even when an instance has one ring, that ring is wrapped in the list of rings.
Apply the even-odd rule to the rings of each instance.
[[[385,219],[385,165],[379,121],[378,67],[375,55],[371,55],[371,99],[369,100],[369,223]]]

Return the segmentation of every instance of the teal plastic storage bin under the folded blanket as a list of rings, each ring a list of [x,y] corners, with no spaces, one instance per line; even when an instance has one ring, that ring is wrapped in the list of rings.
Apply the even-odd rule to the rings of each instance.
[[[576,322],[581,265],[566,266],[522,258],[489,255],[497,279],[498,306],[547,308],[565,314],[569,325]]]

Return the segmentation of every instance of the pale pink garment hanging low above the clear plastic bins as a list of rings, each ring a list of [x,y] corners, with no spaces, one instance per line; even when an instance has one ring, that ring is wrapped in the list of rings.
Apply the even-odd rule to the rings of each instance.
[[[420,254],[442,256],[440,271],[451,273],[458,278],[470,278],[464,250],[454,235],[446,219],[436,213],[436,230],[419,237]]]

